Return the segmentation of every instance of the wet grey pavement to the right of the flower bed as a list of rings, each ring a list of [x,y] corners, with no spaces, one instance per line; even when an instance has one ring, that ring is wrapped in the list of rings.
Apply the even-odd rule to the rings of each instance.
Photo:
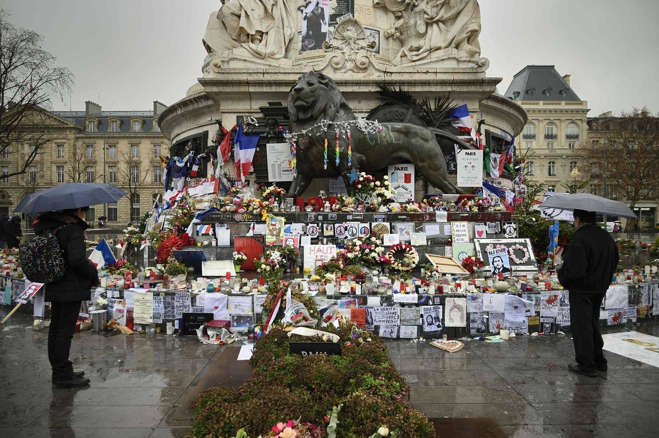
[[[630,328],[659,336],[656,323]],[[510,437],[656,436],[659,368],[604,352],[608,372],[574,374],[569,333],[468,341],[457,353],[413,341],[387,347],[428,418],[492,417]]]

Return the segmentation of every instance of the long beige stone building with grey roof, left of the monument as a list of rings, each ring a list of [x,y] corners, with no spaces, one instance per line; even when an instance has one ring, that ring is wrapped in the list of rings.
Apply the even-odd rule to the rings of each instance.
[[[45,144],[25,174],[0,180],[0,213],[12,214],[28,193],[60,183],[107,182],[128,195],[115,204],[90,208],[88,222],[105,215],[108,226],[123,227],[137,220],[163,193],[158,155],[169,155],[169,141],[159,129],[158,116],[165,108],[156,101],[148,111],[103,111],[88,101],[84,111],[35,110],[22,129]],[[31,147],[29,141],[11,145],[0,155],[0,174],[20,170]]]

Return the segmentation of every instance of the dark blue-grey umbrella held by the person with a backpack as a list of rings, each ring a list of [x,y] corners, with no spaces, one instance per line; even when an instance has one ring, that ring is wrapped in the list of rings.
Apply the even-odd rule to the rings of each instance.
[[[30,193],[14,209],[14,212],[42,213],[90,205],[115,203],[126,193],[111,184],[66,183]]]

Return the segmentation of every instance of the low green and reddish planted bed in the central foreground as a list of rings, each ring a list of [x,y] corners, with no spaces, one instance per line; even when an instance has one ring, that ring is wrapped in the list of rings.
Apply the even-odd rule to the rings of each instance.
[[[370,437],[380,427],[399,437],[434,436],[428,419],[409,405],[409,387],[376,335],[350,324],[324,329],[341,338],[341,356],[291,355],[287,333],[273,327],[254,346],[256,377],[237,390],[217,387],[200,395],[192,436],[233,437],[244,427],[255,438],[291,419],[327,436],[332,408],[339,405],[337,437]]]

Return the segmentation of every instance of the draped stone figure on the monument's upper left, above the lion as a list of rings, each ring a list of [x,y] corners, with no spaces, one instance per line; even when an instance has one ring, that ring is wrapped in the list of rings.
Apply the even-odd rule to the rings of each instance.
[[[297,8],[302,0],[228,0],[208,20],[208,53],[243,47],[260,59],[280,59],[297,36]]]

